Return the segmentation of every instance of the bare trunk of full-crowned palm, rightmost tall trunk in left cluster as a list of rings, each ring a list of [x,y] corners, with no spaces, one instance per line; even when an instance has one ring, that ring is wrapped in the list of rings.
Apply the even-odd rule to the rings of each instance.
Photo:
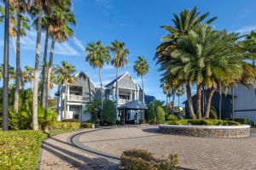
[[[49,83],[50,83],[50,76],[51,76],[51,71],[52,71],[52,66],[53,66],[55,41],[56,41],[56,38],[53,37],[52,42],[51,42],[51,46],[50,46],[50,52],[49,52],[49,68],[48,68],[48,72],[47,72],[45,94],[44,94],[44,108],[45,108],[45,110],[48,110]]]

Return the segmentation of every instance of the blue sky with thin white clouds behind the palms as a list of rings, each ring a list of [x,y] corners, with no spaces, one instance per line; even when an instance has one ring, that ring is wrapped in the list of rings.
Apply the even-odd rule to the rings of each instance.
[[[211,16],[218,16],[218,20],[213,23],[216,29],[240,31],[243,34],[256,30],[255,0],[73,0],[73,9],[77,17],[77,26],[73,28],[75,36],[68,42],[56,45],[54,64],[67,60],[76,66],[77,71],[84,71],[98,83],[97,71],[84,61],[84,47],[88,42],[97,40],[101,40],[104,45],[119,40],[125,42],[131,53],[129,64],[121,69],[120,74],[129,71],[131,77],[140,83],[140,77],[133,72],[132,65],[138,55],[143,55],[150,65],[145,77],[145,93],[165,100],[166,97],[160,88],[158,65],[155,65],[153,60],[155,48],[160,44],[160,37],[166,35],[166,31],[160,26],[172,25],[173,13],[177,14],[183,8],[195,6],[202,13],[209,11]],[[0,32],[0,54],[3,56],[3,25],[0,25]],[[22,67],[34,66],[35,41],[35,31],[27,32],[27,37],[22,38]],[[10,65],[15,66],[15,55],[12,46],[10,47]],[[43,48],[44,34],[41,51]],[[3,62],[3,57],[1,59]],[[103,70],[103,83],[112,81],[114,77],[115,69],[111,65],[106,65]],[[54,92],[55,89],[52,94]],[[185,96],[181,100],[184,99]]]

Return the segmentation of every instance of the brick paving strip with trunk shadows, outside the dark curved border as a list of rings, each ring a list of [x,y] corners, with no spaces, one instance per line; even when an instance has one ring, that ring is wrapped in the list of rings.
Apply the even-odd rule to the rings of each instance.
[[[88,130],[83,130],[88,131]],[[76,132],[78,133],[78,132]],[[40,170],[105,170],[116,169],[117,163],[106,158],[91,156],[67,142],[74,133],[59,134],[43,141]]]

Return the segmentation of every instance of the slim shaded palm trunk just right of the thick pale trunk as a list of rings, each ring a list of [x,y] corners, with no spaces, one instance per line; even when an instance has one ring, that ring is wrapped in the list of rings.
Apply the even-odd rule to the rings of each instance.
[[[49,39],[49,33],[48,33],[48,29],[46,29],[45,42],[44,42],[44,65],[43,65],[43,71],[42,71],[42,86],[41,86],[41,105],[43,106],[44,109],[45,109],[44,95],[45,95],[45,88],[47,86],[45,82],[45,77],[46,77],[48,39]]]

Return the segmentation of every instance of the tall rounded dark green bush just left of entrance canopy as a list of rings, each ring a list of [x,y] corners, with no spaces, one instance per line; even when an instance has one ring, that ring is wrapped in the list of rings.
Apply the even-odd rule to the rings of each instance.
[[[116,110],[113,101],[110,99],[104,101],[102,123],[107,123],[108,125],[116,124]]]

